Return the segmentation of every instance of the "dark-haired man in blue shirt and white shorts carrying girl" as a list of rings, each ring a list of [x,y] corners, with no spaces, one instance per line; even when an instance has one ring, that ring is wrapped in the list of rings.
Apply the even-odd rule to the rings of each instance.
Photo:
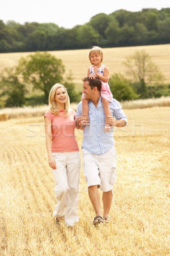
[[[103,221],[108,223],[109,212],[113,199],[113,184],[116,180],[116,150],[113,139],[113,126],[123,127],[127,124],[127,117],[116,99],[110,102],[111,116],[105,117],[102,100],[100,97],[101,81],[96,79],[83,79],[83,90],[85,99],[89,99],[88,116],[82,113],[82,102],[77,107],[77,121],[82,128],[81,122],[85,120],[90,125],[83,129],[82,157],[83,172],[88,186],[88,195],[94,207],[96,217],[93,224],[97,225]],[[113,120],[115,116],[116,120]],[[103,128],[110,124],[111,131],[106,133]],[[103,214],[100,209],[101,189]]]

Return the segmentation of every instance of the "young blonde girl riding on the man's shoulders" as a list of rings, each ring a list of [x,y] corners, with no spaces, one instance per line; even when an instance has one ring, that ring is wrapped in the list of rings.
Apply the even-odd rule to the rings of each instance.
[[[102,105],[105,111],[105,116],[111,116],[111,110],[109,107],[109,102],[113,101],[113,95],[108,85],[109,80],[109,70],[106,65],[102,65],[103,53],[102,48],[94,46],[89,52],[88,58],[93,66],[88,68],[88,77],[95,79],[98,77],[102,82],[102,89],[100,95],[102,97]],[[82,94],[82,112],[88,116],[88,99],[84,98],[84,93]],[[89,123],[82,121],[82,125],[89,125]],[[105,132],[111,131],[111,126],[109,124],[105,125]]]

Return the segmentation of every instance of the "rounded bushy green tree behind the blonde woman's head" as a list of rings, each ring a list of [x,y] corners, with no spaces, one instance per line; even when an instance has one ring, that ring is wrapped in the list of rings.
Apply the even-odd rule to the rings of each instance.
[[[48,52],[36,52],[26,58],[20,58],[17,74],[22,74],[23,81],[31,83],[34,88],[42,90],[47,103],[51,87],[62,81],[64,65],[61,59],[55,58]]]

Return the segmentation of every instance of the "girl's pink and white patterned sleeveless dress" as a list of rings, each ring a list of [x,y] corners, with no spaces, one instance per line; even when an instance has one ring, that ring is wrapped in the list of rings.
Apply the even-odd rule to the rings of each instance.
[[[101,76],[103,76],[103,73],[104,73],[104,68],[106,67],[106,65],[102,65],[102,67],[99,67],[97,69],[97,73],[100,74]],[[95,75],[94,73],[94,68],[93,66],[90,67],[90,74],[93,74]],[[101,81],[101,80],[100,80]],[[101,81],[102,82],[102,81]],[[109,102],[112,102],[113,101],[113,95],[111,93],[111,90],[110,90],[110,87],[108,85],[108,83],[104,83],[102,82],[102,88],[100,90],[100,95],[107,99]],[[84,93],[82,93],[82,98],[84,97]]]

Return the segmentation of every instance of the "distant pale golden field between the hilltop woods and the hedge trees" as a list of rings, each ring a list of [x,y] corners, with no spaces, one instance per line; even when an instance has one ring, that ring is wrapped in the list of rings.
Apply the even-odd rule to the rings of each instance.
[[[113,73],[122,73],[126,75],[127,68],[122,64],[125,58],[132,55],[135,51],[145,50],[151,57],[159,71],[165,76],[166,82],[170,82],[170,44],[136,46],[136,47],[115,47],[103,48],[103,64],[107,65],[110,76]],[[65,76],[70,71],[76,84],[76,89],[81,90],[82,78],[87,75],[88,67],[91,66],[88,60],[90,49],[51,51],[56,58],[60,58],[65,65]],[[18,64],[21,57],[26,57],[33,52],[13,52],[0,53],[0,71],[4,67],[13,67]]]

